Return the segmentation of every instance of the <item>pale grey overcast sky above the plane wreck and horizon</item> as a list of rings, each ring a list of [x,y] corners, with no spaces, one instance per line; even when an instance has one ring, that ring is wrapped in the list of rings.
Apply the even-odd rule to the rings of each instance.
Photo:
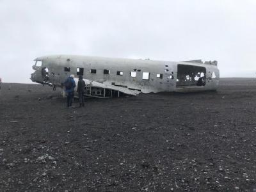
[[[0,0],[0,77],[31,83],[38,56],[217,60],[256,77],[254,0]]]

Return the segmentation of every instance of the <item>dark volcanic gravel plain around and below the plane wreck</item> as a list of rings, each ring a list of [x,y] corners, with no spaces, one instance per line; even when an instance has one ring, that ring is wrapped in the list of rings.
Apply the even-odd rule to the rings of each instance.
[[[0,191],[256,191],[256,79],[86,99],[3,83]]]

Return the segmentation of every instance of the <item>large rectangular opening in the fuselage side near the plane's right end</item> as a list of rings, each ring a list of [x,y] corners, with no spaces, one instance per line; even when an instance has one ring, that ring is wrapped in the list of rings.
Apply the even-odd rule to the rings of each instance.
[[[176,87],[205,86],[206,68],[178,64]]]

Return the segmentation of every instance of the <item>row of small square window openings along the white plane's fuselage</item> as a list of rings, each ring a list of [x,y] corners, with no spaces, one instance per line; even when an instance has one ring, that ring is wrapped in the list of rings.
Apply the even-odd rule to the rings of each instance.
[[[70,67],[65,67],[64,68],[64,71],[65,72],[70,72]],[[96,69],[91,69],[90,70],[90,73],[91,74],[96,74],[97,70]],[[137,76],[137,72],[141,72],[140,69],[136,70],[136,71],[131,71],[130,72],[130,76],[131,77],[136,77]],[[77,76],[83,76],[84,75],[84,68],[81,68],[81,67],[77,67],[77,70],[76,70],[76,74]],[[110,70],[108,69],[104,69],[103,70],[103,74],[104,75],[109,75],[110,74]],[[144,80],[149,80],[149,72],[142,72],[142,79]],[[124,72],[122,71],[116,71],[116,76],[123,76],[124,75]],[[156,77],[158,79],[163,79],[163,74],[156,74]],[[173,72],[171,75],[168,76],[168,79],[174,79],[174,76],[173,76]]]

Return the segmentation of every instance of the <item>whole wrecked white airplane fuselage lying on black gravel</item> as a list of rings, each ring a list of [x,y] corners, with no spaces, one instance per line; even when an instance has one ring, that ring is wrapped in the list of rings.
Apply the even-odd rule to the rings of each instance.
[[[150,92],[200,92],[216,90],[217,61],[153,61],[92,56],[56,55],[35,59],[31,80],[54,90],[74,74],[83,76],[88,97],[120,97]],[[76,92],[76,90],[75,90]]]

